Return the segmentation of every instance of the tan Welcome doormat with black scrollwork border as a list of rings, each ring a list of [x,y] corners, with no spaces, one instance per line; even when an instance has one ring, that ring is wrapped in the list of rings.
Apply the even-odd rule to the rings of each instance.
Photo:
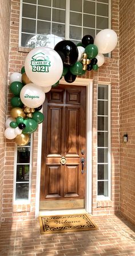
[[[39,216],[41,234],[97,230],[87,214]]]

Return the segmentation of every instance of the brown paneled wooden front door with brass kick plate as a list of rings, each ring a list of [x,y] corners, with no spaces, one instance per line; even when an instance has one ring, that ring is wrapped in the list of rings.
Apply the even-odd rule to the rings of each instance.
[[[51,89],[43,114],[40,209],[84,208],[86,87]]]

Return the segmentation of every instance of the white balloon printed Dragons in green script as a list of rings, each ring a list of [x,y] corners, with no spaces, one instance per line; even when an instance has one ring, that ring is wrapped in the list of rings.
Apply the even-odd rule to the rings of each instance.
[[[45,93],[42,87],[34,85],[34,83],[27,83],[22,87],[20,92],[22,103],[29,108],[38,108],[45,101]]]

